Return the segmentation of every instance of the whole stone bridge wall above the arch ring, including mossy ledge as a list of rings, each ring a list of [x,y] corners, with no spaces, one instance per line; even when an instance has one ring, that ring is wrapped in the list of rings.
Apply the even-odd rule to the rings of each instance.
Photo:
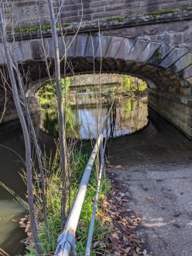
[[[62,0],[53,0],[57,13]],[[50,24],[46,0],[9,0],[5,6],[7,24],[14,26],[36,26]],[[103,36],[122,36],[132,40],[149,40],[166,43],[173,47],[192,50],[192,0],[87,0],[82,1],[84,16],[81,21],[81,0],[64,1],[61,9],[61,22],[67,33],[98,34]],[[98,22],[99,20],[99,22]],[[39,31],[22,33],[25,38],[39,37]],[[51,35],[50,30],[43,31],[43,36]],[[21,34],[19,33],[19,40]]]

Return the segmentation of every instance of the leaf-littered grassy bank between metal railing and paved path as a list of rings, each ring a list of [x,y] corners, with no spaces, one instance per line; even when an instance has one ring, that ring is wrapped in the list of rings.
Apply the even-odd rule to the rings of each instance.
[[[113,166],[113,168],[118,168],[118,166]],[[94,178],[95,177],[93,174],[91,177],[91,186],[95,181]],[[74,190],[77,191],[77,187]],[[91,193],[88,192],[89,195],[87,195],[87,198],[85,199],[84,207],[81,213],[81,220],[79,223],[76,237],[77,255],[84,254],[89,220],[91,218],[91,204],[94,199],[94,192],[94,190]],[[106,180],[103,179],[103,184],[101,184],[98,214],[96,217],[96,225],[94,227],[95,237],[93,240],[91,255],[149,255],[147,254],[145,247],[143,247],[143,240],[139,239],[136,236],[136,230],[142,222],[142,218],[138,216],[137,211],[135,211],[134,209],[129,209],[129,199],[129,188],[125,184],[122,184],[122,182],[118,181],[117,175],[107,172],[107,178]],[[27,252],[27,255],[33,256],[36,254],[33,251],[33,237],[29,230],[29,218],[27,216],[26,220],[26,226],[23,225],[23,227],[26,228],[26,232],[28,235],[26,241],[28,241],[29,243],[29,247],[27,247],[29,251]],[[43,219],[39,221],[40,237],[45,235],[45,230],[42,230],[42,227]],[[57,232],[59,232],[59,229],[57,230]],[[55,233],[54,235],[57,236],[57,233]],[[54,237],[54,239],[56,238],[57,237]],[[46,255],[53,254],[53,251],[46,251]]]

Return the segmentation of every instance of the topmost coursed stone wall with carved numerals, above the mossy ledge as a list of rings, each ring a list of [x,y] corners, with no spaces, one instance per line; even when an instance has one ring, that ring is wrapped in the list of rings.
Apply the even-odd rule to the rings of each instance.
[[[60,2],[53,0],[55,12]],[[39,22],[49,23],[49,10],[46,0],[8,0],[5,5],[7,22],[12,20],[27,26]],[[131,17],[148,12],[164,12],[176,9],[187,9],[192,6],[191,0],[65,0],[61,9],[62,22],[79,22],[83,13],[84,21],[94,19],[112,19],[117,17]],[[155,15],[155,13],[153,13]]]

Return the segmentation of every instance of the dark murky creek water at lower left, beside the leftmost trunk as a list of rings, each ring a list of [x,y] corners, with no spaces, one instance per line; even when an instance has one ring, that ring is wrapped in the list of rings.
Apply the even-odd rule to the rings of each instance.
[[[26,185],[19,175],[24,168],[20,158],[25,157],[25,147],[22,140],[22,131],[18,123],[1,126],[0,129],[0,181],[18,195],[24,197]],[[5,147],[2,147],[5,146]],[[17,154],[14,153],[17,152]],[[25,236],[19,220],[25,214],[25,209],[12,199],[12,195],[0,186],[0,247],[10,255],[22,250],[23,244],[19,241]]]

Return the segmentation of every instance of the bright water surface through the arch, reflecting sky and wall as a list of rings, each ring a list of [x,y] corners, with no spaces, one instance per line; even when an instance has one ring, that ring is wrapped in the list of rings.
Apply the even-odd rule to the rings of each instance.
[[[108,106],[71,109],[67,107],[67,137],[92,139],[101,130],[102,121],[108,113]],[[118,99],[115,106],[114,137],[134,133],[147,124],[146,102],[132,99]],[[41,129],[53,135],[57,134],[57,112],[55,109],[43,110]],[[109,121],[110,122],[110,121]],[[106,136],[106,132],[104,133]]]

